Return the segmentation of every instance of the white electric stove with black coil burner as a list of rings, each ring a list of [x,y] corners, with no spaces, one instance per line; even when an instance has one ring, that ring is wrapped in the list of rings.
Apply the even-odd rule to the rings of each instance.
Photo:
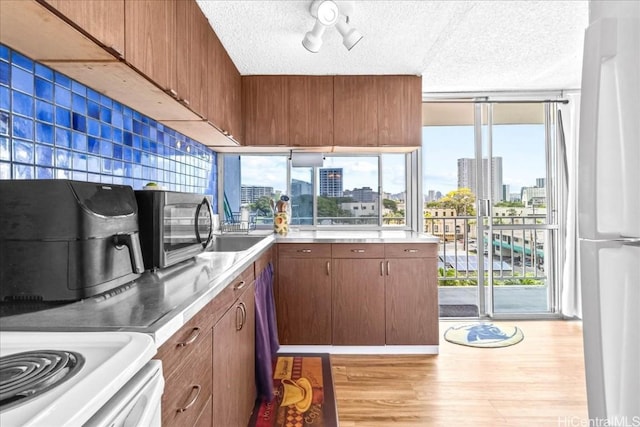
[[[164,382],[160,363],[150,362],[155,352],[141,333],[0,331],[0,426],[100,425],[105,408],[146,371],[140,383],[153,379],[159,413]],[[126,399],[119,407],[135,406],[131,393]]]

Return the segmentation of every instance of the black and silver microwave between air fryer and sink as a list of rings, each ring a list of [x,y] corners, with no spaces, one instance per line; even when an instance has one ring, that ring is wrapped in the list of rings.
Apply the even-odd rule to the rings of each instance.
[[[202,252],[213,237],[209,196],[137,190],[138,229],[145,269],[169,267]]]

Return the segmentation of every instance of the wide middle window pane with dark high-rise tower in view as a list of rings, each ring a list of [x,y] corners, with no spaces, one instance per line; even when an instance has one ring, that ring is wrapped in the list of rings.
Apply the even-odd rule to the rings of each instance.
[[[327,157],[318,176],[318,225],[379,224],[377,156]]]

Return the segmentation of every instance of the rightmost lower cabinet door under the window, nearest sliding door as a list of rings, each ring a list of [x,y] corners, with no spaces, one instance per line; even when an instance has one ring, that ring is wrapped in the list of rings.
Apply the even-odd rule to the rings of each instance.
[[[387,259],[386,343],[438,345],[435,258]]]

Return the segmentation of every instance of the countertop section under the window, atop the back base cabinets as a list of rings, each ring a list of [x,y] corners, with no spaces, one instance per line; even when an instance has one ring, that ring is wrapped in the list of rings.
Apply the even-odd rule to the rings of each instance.
[[[431,234],[405,230],[290,230],[278,243],[439,243]]]

